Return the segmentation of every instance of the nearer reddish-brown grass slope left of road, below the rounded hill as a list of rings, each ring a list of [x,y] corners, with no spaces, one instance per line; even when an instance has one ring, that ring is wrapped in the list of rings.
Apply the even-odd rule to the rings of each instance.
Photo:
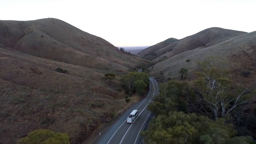
[[[132,97],[127,104],[120,82],[107,82],[106,73],[116,79],[124,74],[0,48],[0,143],[15,144],[40,128],[66,132],[72,144],[89,143],[94,132],[136,102]]]

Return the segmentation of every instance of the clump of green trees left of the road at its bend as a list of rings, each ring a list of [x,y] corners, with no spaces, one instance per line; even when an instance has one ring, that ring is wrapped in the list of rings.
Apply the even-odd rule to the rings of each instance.
[[[149,86],[149,74],[145,72],[129,72],[121,78],[122,87],[128,96],[137,93],[143,96]]]

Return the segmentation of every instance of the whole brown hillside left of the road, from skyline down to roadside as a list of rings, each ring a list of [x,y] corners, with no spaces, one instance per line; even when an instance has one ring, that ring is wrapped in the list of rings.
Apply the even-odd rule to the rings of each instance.
[[[137,101],[124,100],[121,76],[148,63],[58,19],[1,20],[0,143],[41,128],[90,143]]]

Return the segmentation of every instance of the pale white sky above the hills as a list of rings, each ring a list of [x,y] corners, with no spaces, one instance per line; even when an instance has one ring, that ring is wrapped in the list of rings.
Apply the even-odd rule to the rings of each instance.
[[[256,30],[256,0],[1,0],[0,20],[57,18],[114,46],[152,46],[220,27]]]

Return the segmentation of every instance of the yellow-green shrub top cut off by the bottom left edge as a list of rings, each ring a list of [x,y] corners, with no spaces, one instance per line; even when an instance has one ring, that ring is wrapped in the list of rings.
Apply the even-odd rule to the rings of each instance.
[[[69,144],[69,136],[66,133],[40,129],[18,140],[18,144]]]

